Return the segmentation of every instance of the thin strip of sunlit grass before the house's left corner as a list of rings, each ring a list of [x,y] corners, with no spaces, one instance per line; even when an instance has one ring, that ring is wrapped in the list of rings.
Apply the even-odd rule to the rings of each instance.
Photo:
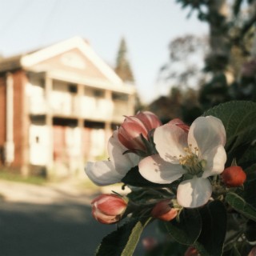
[[[10,171],[0,170],[0,179],[10,182],[23,182],[27,184],[43,185],[46,183],[46,178],[39,176],[22,176],[21,174],[15,174]]]

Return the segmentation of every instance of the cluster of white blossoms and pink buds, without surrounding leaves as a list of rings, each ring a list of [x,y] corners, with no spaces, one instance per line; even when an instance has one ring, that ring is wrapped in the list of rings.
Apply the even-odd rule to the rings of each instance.
[[[104,186],[122,182],[127,172],[131,175],[132,171],[138,171],[145,182],[166,184],[170,188],[175,182],[174,190],[170,189],[175,192],[164,196],[168,199],[157,199],[158,202],[151,198],[156,202],[154,205],[148,198],[148,202],[140,201],[140,206],[131,197],[128,210],[126,198],[102,194],[92,201],[94,218],[111,224],[135,212],[136,217],[148,214],[170,222],[183,207],[204,206],[214,197],[213,192],[226,193],[226,187],[242,186],[246,181],[242,167],[232,165],[225,169],[225,144],[225,127],[213,116],[199,117],[191,126],[178,118],[162,125],[149,111],[126,117],[110,138],[109,160],[90,164],[86,173],[96,184]],[[217,175],[221,179],[211,178]],[[133,186],[129,182],[128,185]]]

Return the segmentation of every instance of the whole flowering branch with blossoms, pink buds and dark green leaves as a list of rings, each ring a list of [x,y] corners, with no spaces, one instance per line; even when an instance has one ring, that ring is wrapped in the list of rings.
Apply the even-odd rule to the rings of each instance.
[[[164,237],[142,238],[146,254],[256,256],[255,141],[246,134],[254,128],[242,128],[249,119],[226,122],[224,117],[204,114],[190,126],[178,118],[162,125],[149,111],[125,117],[109,139],[109,158],[86,167],[98,186],[122,182],[122,189],[130,190],[126,196],[102,194],[91,202],[98,222],[120,222],[110,239],[103,240],[104,254],[109,248],[105,244],[119,238],[118,244],[126,246],[122,253],[118,250],[121,254],[134,251],[142,230],[157,221]],[[210,228],[216,229],[214,236]],[[174,247],[175,241],[186,247]]]

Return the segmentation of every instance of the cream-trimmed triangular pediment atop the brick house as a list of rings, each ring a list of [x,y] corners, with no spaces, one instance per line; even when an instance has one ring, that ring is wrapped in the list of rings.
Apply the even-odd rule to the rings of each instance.
[[[79,77],[122,84],[114,70],[103,62],[82,38],[71,38],[22,57],[22,66],[37,72],[58,71]]]

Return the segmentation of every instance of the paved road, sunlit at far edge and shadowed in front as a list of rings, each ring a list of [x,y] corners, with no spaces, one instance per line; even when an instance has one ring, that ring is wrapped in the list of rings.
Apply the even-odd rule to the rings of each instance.
[[[0,180],[1,256],[92,256],[115,229],[94,221],[91,191]],[[134,255],[142,255],[142,246]]]

